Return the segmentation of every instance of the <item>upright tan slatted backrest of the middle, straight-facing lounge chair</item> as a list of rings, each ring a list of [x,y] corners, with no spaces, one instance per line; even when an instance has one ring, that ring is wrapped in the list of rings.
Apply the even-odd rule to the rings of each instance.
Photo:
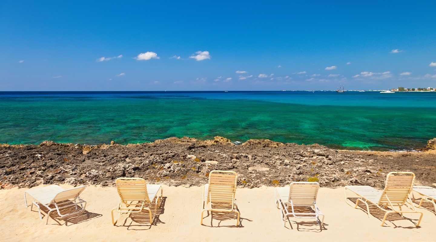
[[[209,172],[208,202],[222,202],[233,206],[237,177],[235,171]]]

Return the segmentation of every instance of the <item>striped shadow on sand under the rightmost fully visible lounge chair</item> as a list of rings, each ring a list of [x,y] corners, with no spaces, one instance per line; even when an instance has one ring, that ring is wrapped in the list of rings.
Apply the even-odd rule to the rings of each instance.
[[[357,199],[358,198],[347,198],[349,201],[353,202],[354,204],[356,204]],[[375,218],[379,219],[380,221],[383,221],[383,217],[385,216],[385,211],[381,210],[380,208],[378,208],[376,205],[368,202],[368,206],[369,206],[369,213],[370,215],[374,216]],[[358,205],[359,208],[361,208],[361,210],[367,214],[366,212],[366,205],[363,202],[360,202]],[[392,209],[386,208],[386,210],[388,211],[392,211]],[[408,220],[410,222],[412,222],[413,226],[397,226],[395,224],[395,221],[404,221],[404,220]],[[403,228],[403,229],[417,229],[420,227],[416,227],[416,223],[418,222],[418,219],[413,219],[413,218],[406,218],[406,217],[402,217],[401,214],[399,213],[389,213],[388,216],[386,217],[386,221],[385,223],[390,222],[392,223],[392,225],[394,225],[394,228]],[[388,225],[383,225],[383,227],[388,227]]]

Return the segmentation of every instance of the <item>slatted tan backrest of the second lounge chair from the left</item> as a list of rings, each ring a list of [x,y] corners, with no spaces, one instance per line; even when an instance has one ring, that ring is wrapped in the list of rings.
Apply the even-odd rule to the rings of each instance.
[[[147,183],[143,178],[120,177],[115,180],[116,190],[123,203],[129,201],[150,202]]]

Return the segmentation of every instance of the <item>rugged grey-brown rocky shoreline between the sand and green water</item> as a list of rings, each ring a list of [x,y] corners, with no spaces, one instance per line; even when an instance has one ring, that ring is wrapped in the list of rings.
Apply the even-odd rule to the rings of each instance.
[[[384,186],[390,171],[412,171],[416,184],[436,185],[436,138],[426,151],[348,151],[322,145],[215,137],[167,138],[152,143],[0,145],[0,187],[68,183],[110,186],[118,177],[141,177],[173,186],[203,185],[211,170],[238,172],[238,186],[283,186],[317,181],[324,187]]]

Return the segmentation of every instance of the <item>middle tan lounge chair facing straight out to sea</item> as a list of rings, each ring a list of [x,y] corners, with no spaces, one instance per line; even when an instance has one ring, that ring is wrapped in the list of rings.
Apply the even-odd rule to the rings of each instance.
[[[203,189],[203,211],[201,211],[201,221],[203,224],[204,211],[235,213],[238,215],[236,226],[239,225],[239,211],[236,205],[236,179],[238,175],[235,171],[211,171],[209,173],[209,183]]]

